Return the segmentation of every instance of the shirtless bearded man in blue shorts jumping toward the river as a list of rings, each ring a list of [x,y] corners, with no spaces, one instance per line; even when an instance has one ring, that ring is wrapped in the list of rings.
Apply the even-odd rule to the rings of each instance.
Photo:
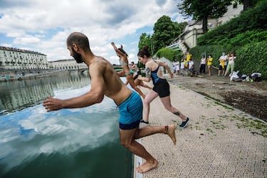
[[[142,119],[140,95],[122,83],[110,62],[92,53],[87,36],[79,32],[71,33],[67,39],[67,48],[70,51],[70,56],[73,56],[77,63],[85,63],[90,68],[91,89],[88,93],[66,100],[49,97],[43,101],[46,111],[88,107],[102,102],[104,95],[112,98],[120,112],[121,144],[130,152],[146,160],[144,164],[137,167],[137,172],[144,173],[157,167],[157,160],[136,140],[148,135],[164,133],[169,135],[175,145],[175,126],[145,126],[140,128],[140,120]],[[122,58],[126,57],[120,51],[116,50],[116,52]]]

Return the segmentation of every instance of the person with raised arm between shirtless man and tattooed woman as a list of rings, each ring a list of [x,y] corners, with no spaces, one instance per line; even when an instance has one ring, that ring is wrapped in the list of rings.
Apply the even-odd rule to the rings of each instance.
[[[113,48],[115,49],[115,51],[117,50],[117,47],[115,46],[115,43],[112,42],[111,45],[113,46]],[[127,53],[122,49],[122,45],[120,46],[120,48],[118,48],[118,50],[120,52],[122,52],[126,58],[121,58],[121,56],[118,56],[120,58],[120,65],[122,66],[122,71],[118,72],[117,74],[120,77],[125,77],[127,82],[130,83],[131,87],[137,91],[137,93],[139,93],[139,95],[142,96],[143,99],[145,99],[145,95],[144,93],[142,93],[142,91],[140,90],[140,88],[137,87],[137,85],[135,85],[135,81],[133,79],[133,74],[135,73],[134,71],[132,71],[129,67],[129,62],[127,59]]]

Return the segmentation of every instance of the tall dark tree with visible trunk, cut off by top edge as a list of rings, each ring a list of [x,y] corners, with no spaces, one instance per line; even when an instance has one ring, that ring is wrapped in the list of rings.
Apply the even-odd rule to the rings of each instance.
[[[227,11],[227,6],[231,5],[232,0],[183,0],[177,4],[181,14],[186,18],[192,16],[196,21],[202,21],[204,33],[208,31],[208,19],[217,19]]]

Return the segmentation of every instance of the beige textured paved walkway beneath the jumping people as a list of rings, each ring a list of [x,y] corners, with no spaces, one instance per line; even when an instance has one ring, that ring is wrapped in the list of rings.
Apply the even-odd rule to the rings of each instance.
[[[150,125],[177,125],[177,145],[163,134],[142,138],[140,142],[159,165],[145,174],[136,173],[135,177],[267,177],[266,123],[192,90],[169,84],[172,105],[190,117],[191,122],[180,129],[179,117],[164,110],[156,98],[151,103]],[[142,164],[140,157],[137,164]]]

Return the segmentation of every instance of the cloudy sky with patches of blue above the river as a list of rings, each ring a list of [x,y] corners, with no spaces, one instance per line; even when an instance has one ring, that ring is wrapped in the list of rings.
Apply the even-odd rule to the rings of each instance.
[[[48,61],[71,58],[66,38],[73,31],[89,37],[97,56],[118,63],[110,43],[122,44],[137,62],[142,33],[152,34],[161,16],[178,23],[179,0],[0,0],[0,46],[47,55]]]

